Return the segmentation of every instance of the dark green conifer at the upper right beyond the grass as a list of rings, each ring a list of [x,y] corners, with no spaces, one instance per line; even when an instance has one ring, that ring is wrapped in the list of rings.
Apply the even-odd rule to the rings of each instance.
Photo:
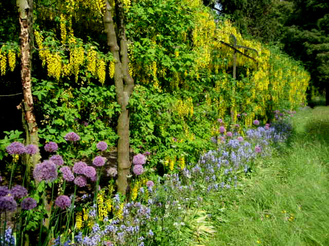
[[[282,43],[284,50],[303,61],[311,83],[325,90],[329,105],[329,3],[324,0],[292,1]]]

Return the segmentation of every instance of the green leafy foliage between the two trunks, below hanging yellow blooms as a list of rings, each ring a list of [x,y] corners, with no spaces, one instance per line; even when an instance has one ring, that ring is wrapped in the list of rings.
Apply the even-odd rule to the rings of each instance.
[[[96,150],[98,141],[105,140],[109,147],[115,146],[117,135],[113,120],[120,107],[115,101],[114,86],[90,83],[72,88],[68,83],[61,85],[57,81],[41,80],[33,87],[33,95],[38,98],[36,113],[43,118],[39,137],[46,142],[63,144],[60,154],[65,157],[69,154],[65,151],[64,136],[70,131],[82,136],[81,144],[76,146],[77,155],[71,158],[89,157]]]

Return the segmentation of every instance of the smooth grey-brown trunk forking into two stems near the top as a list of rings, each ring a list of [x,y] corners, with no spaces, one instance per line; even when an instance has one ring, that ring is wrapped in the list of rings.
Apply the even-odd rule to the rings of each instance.
[[[117,187],[121,194],[126,193],[128,186],[127,175],[130,174],[131,162],[129,158],[129,110],[127,109],[129,98],[134,90],[134,80],[128,71],[129,59],[127,51],[127,39],[125,35],[125,25],[123,16],[123,5],[121,1],[117,1],[118,8],[118,28],[119,41],[115,32],[115,25],[111,13],[111,6],[106,0],[106,12],[104,14],[104,26],[107,33],[107,45],[115,58],[114,82],[116,87],[116,96],[121,112],[118,119],[118,178]],[[120,52],[120,53],[119,53]]]

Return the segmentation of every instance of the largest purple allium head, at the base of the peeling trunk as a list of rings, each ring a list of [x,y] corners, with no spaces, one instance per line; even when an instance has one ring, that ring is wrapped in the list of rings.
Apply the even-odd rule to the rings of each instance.
[[[51,160],[45,160],[37,164],[33,170],[33,177],[36,181],[51,182],[57,179],[57,176],[57,166]]]

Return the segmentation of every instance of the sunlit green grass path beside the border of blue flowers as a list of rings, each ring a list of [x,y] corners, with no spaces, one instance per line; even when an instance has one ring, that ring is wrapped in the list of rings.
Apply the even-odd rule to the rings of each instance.
[[[329,107],[300,110],[288,146],[234,192],[206,245],[329,245]]]

